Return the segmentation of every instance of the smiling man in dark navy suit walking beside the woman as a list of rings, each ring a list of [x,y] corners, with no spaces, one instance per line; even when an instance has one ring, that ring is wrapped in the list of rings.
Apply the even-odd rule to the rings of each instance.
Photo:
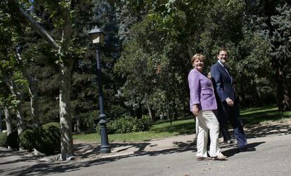
[[[218,106],[218,119],[219,123],[221,123],[221,128],[222,130],[226,129],[226,121],[228,119],[231,122],[231,126],[233,126],[234,135],[238,141],[239,151],[254,151],[254,148],[247,147],[247,139],[239,118],[238,102],[235,100],[235,89],[233,88],[233,77],[225,66],[228,61],[228,52],[226,48],[219,50],[217,59],[218,61],[212,65],[211,76],[214,90],[216,90],[218,97],[217,101],[222,104]],[[226,135],[224,133],[223,135]]]

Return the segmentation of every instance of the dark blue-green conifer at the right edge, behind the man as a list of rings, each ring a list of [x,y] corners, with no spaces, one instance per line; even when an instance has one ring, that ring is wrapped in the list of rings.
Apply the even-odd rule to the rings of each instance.
[[[257,1],[250,6],[250,19],[254,30],[271,42],[271,66],[275,70],[278,109],[287,111],[290,106],[290,2]]]

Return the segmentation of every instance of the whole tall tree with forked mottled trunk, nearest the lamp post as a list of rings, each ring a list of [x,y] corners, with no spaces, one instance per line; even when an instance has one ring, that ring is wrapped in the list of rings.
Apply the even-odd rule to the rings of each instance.
[[[37,2],[37,1],[36,1]],[[47,8],[51,8],[56,20],[56,27],[61,30],[61,37],[57,43],[46,30],[39,25],[37,20],[34,20],[27,14],[17,1],[8,1],[11,8],[11,13],[19,18],[20,22],[27,27],[31,27],[39,33],[44,40],[51,46],[58,58],[58,66],[60,69],[60,133],[61,133],[61,152],[62,159],[66,160],[67,155],[74,153],[72,144],[72,125],[70,119],[70,78],[72,70],[72,55],[70,51],[70,34],[72,28],[71,4],[70,1],[46,1]],[[56,18],[58,17],[58,18]]]

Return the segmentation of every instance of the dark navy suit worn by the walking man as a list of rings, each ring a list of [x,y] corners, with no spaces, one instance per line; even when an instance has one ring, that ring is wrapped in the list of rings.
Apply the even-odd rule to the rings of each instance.
[[[228,132],[226,131],[226,121],[231,122],[233,132],[238,140],[238,147],[243,148],[247,145],[247,139],[243,131],[243,126],[239,118],[238,102],[235,101],[235,90],[233,88],[233,80],[231,73],[222,66],[221,63],[216,62],[212,65],[211,76],[214,85],[216,97],[218,98],[218,119],[221,126],[222,135],[228,140]],[[233,107],[228,106],[226,98],[229,97],[233,100]],[[221,104],[219,104],[221,103]]]

